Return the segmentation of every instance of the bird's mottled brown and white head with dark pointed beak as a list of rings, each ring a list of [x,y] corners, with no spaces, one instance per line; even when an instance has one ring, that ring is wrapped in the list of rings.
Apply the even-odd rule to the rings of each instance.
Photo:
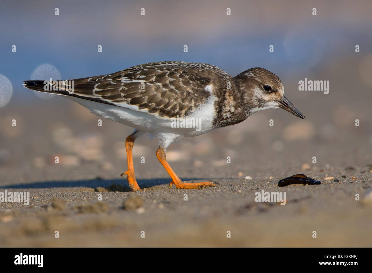
[[[285,97],[282,81],[270,71],[256,67],[240,73],[235,78],[248,105],[248,115],[260,110],[280,107],[296,117],[305,118]]]

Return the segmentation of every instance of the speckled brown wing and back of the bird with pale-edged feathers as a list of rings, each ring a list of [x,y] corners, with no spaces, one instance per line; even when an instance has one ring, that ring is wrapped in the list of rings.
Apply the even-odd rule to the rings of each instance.
[[[69,95],[122,107],[136,105],[160,117],[183,117],[211,95],[206,87],[221,77],[230,76],[213,65],[154,62],[75,79],[74,94]]]

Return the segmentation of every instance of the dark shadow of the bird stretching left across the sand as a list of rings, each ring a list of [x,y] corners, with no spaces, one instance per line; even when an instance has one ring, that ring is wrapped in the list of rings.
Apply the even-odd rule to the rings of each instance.
[[[182,179],[182,178],[181,178]],[[201,178],[186,178],[182,181],[200,180]],[[153,179],[138,179],[137,183],[141,189],[170,183],[169,178],[153,178]],[[0,185],[0,189],[40,189],[40,188],[70,188],[70,187],[88,187],[97,188],[103,187],[108,191],[123,191],[129,192],[132,189],[129,187],[126,179],[89,179],[89,180],[74,180],[74,181],[44,181],[30,182],[13,185]]]

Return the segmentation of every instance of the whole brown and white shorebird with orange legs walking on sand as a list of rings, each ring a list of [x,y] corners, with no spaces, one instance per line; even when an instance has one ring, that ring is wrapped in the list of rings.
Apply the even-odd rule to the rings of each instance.
[[[134,175],[132,148],[134,140],[144,133],[159,139],[156,156],[172,179],[170,186],[196,189],[216,183],[182,182],[166,160],[165,151],[173,141],[240,123],[254,112],[269,108],[281,107],[305,118],[284,96],[280,79],[264,68],[251,68],[231,77],[210,64],[153,62],[64,83],[24,81],[23,85],[32,90],[63,95],[97,116],[135,128],[125,140],[128,170],[123,173],[133,191],[141,189]],[[174,123],[175,119],[201,122],[195,128],[180,126],[180,123]]]

